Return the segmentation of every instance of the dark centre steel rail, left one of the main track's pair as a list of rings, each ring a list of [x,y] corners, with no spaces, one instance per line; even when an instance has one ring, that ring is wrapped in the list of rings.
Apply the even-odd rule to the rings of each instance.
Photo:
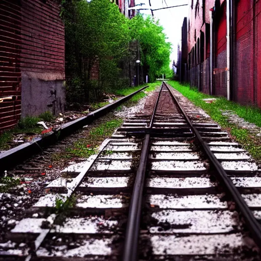
[[[152,124],[155,118],[156,109],[159,102],[159,97],[163,88],[159,91],[156,103],[154,105],[153,113],[151,116],[150,124],[147,129],[152,128]],[[139,228],[140,228],[140,218],[141,218],[141,209],[142,209],[142,194],[144,188],[145,172],[147,158],[149,154],[149,143],[150,143],[150,134],[145,135],[140,163],[136,173],[135,182],[133,186],[131,204],[129,206],[129,214],[126,228],[125,244],[123,250],[123,261],[134,261],[137,260],[138,256],[138,240],[139,240]]]

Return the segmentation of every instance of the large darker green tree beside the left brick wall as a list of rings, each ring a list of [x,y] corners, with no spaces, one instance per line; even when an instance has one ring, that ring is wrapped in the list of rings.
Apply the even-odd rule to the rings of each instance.
[[[110,0],[63,0],[69,101],[99,101],[118,84],[118,62],[130,40],[126,17]],[[99,80],[91,80],[98,64]]]

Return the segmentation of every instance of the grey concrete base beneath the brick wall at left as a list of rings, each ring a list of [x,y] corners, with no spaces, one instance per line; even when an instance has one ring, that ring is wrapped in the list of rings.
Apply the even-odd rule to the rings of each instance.
[[[43,80],[22,72],[22,117],[37,116],[45,111],[57,115],[64,111],[64,80]]]

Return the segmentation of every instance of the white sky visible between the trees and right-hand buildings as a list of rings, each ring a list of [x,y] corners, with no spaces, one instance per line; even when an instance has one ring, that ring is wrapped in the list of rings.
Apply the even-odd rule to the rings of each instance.
[[[162,7],[187,4],[188,0],[151,0],[151,8],[157,9]],[[163,2],[163,3],[162,3]],[[144,3],[141,8],[149,7],[149,0],[135,0],[135,4]],[[166,5],[167,3],[167,5]],[[140,10],[140,13],[151,14],[150,10]],[[181,43],[181,27],[184,17],[188,15],[188,5],[181,7],[168,8],[153,11],[155,19],[159,19],[160,24],[164,27],[164,33],[172,43],[172,53],[170,55],[171,65],[173,60],[177,61],[177,45]],[[171,67],[170,65],[170,67]]]

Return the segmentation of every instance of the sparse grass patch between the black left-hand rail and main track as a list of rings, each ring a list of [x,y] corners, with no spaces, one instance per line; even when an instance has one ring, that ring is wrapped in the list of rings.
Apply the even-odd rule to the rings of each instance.
[[[72,146],[66,148],[65,152],[55,153],[52,156],[53,161],[61,158],[88,158],[97,153],[98,146],[102,141],[111,136],[116,128],[122,124],[122,119],[113,119],[90,130],[86,138],[77,140]],[[109,153],[109,152],[108,152]]]

